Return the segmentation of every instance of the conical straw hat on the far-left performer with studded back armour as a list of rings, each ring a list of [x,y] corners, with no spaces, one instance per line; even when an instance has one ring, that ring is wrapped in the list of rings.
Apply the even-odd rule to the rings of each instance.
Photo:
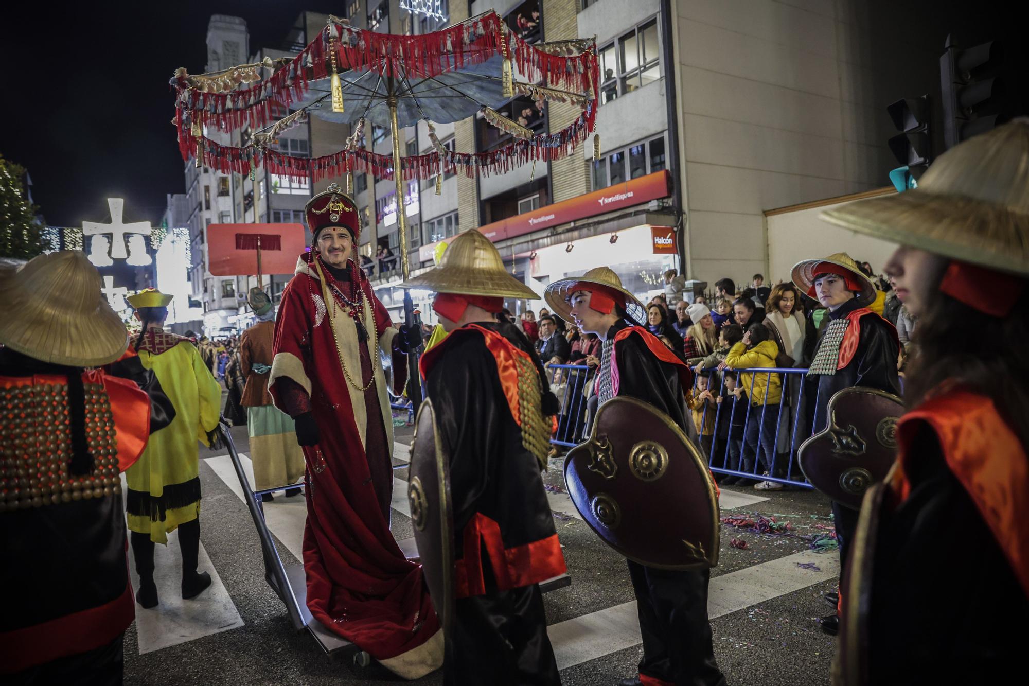
[[[59,250],[0,271],[0,343],[56,365],[99,367],[129,344],[126,327],[100,291],[97,268],[78,250]]]

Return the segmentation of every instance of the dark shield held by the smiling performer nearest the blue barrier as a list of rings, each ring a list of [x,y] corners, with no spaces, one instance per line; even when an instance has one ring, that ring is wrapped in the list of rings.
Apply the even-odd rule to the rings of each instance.
[[[903,403],[892,393],[853,386],[828,403],[825,430],[801,445],[797,461],[808,481],[852,510],[896,457],[896,426]]]

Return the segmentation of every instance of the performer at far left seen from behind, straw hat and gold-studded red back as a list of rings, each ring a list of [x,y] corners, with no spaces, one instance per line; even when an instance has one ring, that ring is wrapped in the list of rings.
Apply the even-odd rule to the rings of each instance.
[[[102,285],[72,250],[0,272],[3,683],[121,683],[135,610],[118,474],[143,452],[150,401],[91,369],[128,343]]]

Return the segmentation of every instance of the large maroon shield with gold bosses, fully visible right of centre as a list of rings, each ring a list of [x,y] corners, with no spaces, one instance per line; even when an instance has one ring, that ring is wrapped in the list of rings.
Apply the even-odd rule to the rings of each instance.
[[[718,498],[700,451],[671,417],[635,398],[597,412],[565,457],[565,486],[582,519],[631,560],[666,570],[718,562]]]

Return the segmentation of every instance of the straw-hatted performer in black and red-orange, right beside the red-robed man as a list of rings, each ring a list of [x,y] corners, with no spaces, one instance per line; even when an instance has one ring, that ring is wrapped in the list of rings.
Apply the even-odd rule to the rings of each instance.
[[[504,298],[539,296],[477,231],[405,286],[436,291],[448,335],[421,361],[454,514],[456,613],[445,683],[560,684],[539,582],[565,573],[540,471],[558,401],[533,345],[497,321]]]

